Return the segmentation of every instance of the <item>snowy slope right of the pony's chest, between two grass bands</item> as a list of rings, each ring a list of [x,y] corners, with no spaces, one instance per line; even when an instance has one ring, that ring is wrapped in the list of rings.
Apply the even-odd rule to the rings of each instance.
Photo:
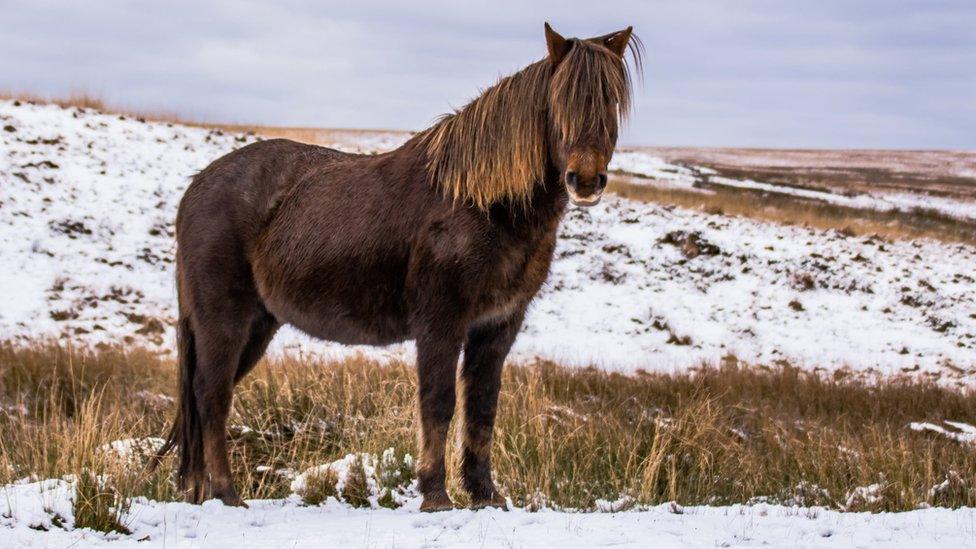
[[[661,244],[675,231],[700,234],[717,253],[687,257],[694,250]],[[623,200],[571,211],[560,236],[522,350],[608,368],[629,357],[676,369],[729,354],[886,372],[976,363],[965,267],[972,248],[887,243]],[[548,326],[559,326],[549,341]]]

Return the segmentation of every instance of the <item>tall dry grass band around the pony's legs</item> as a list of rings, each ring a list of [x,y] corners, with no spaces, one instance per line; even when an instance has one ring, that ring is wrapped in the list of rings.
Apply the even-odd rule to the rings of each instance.
[[[101,475],[87,477],[79,497],[87,503],[76,504],[101,529],[124,528],[123,496],[177,498],[169,463],[150,475],[100,450],[165,431],[173,370],[142,351],[3,346],[0,482]],[[238,388],[231,420],[244,497],[283,497],[290,472],[347,453],[415,454],[415,387],[414,369],[402,363],[262,364]],[[594,509],[621,497],[626,505],[765,500],[890,511],[976,505],[976,448],[908,428],[974,418],[973,392],[908,379],[870,385],[734,363],[635,376],[510,365],[493,459],[500,489],[530,508]],[[857,488],[872,484],[877,499],[858,498]],[[464,502],[456,474],[450,485]]]

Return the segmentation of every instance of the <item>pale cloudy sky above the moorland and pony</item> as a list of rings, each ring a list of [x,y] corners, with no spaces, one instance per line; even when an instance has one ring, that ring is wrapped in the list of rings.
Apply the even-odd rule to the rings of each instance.
[[[0,0],[0,89],[418,129],[565,36],[646,46],[628,144],[976,149],[976,1]]]

